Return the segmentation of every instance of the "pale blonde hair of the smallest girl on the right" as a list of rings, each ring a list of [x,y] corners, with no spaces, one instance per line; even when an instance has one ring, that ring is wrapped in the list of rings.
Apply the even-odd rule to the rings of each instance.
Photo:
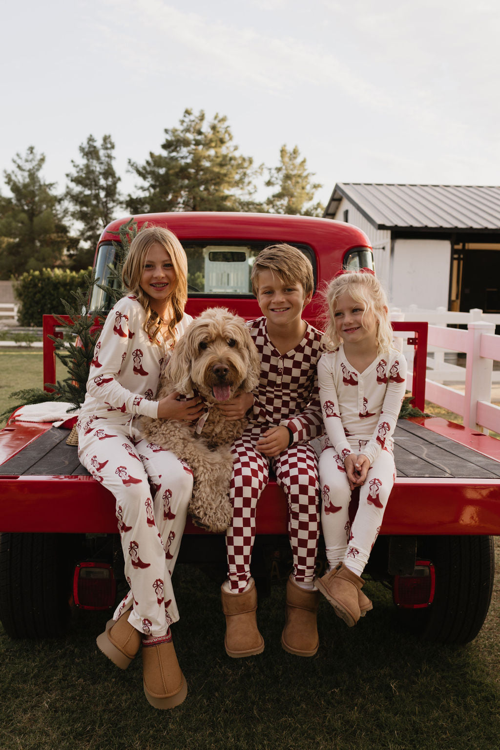
[[[343,343],[342,338],[335,329],[334,314],[337,310],[337,300],[343,294],[349,294],[352,299],[363,305],[364,312],[361,317],[364,323],[367,315],[373,315],[376,324],[377,356],[394,348],[393,332],[389,320],[388,300],[379,279],[371,273],[358,271],[346,271],[342,275],[332,279],[323,292],[325,297],[325,315],[322,344],[327,350],[337,349]]]

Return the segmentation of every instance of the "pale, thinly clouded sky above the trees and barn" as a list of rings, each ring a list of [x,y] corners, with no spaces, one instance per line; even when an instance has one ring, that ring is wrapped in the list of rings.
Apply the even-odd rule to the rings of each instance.
[[[500,184],[499,0],[21,0],[2,22],[2,175],[34,145],[62,190],[109,133],[130,190],[127,158],[190,107],[256,163],[298,145],[324,203],[336,182]]]

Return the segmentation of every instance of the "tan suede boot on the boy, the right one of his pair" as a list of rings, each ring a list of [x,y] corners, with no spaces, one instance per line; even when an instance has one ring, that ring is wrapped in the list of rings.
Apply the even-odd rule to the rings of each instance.
[[[286,581],[285,627],[281,645],[290,654],[314,656],[319,646],[316,613],[319,591],[301,589],[292,575]]]

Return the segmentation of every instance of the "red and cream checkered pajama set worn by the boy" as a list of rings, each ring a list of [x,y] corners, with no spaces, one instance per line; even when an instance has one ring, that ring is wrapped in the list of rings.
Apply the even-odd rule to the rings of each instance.
[[[286,494],[293,575],[312,583],[319,537],[319,481],[316,452],[309,441],[324,429],[316,364],[322,334],[307,324],[301,343],[282,355],[269,340],[265,317],[248,323],[261,361],[259,386],[250,423],[232,447],[234,468],[229,497],[232,523],[226,532],[228,578],[232,592],[250,580],[250,559],[256,534],[256,506],[273,469]],[[277,458],[262,455],[256,443],[271,427],[284,425],[292,444]]]

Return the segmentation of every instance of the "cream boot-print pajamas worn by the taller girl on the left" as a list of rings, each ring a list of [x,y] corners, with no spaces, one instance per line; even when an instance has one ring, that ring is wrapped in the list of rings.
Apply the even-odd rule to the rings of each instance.
[[[184,315],[178,335],[193,320]],[[193,474],[173,453],[143,440],[141,416],[156,417],[154,400],[168,347],[153,344],[136,297],[116,303],[97,341],[87,395],[77,422],[78,456],[115,496],[130,592],[114,619],[133,604],[128,621],[142,633],[165,635],[178,620],[171,576],[193,491]]]

